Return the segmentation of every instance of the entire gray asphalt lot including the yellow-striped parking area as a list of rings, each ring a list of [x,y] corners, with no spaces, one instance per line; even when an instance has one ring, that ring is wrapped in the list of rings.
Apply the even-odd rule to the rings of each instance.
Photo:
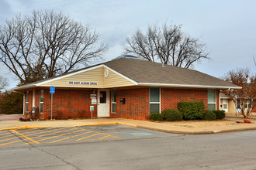
[[[121,124],[0,131],[0,169],[256,169],[256,131],[171,134]]]

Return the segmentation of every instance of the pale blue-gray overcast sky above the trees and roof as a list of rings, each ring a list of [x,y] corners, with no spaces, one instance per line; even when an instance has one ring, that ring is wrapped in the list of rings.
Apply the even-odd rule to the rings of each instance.
[[[182,31],[206,43],[210,60],[195,65],[211,76],[220,77],[237,67],[255,72],[256,1],[195,0],[0,0],[0,25],[17,13],[30,15],[33,10],[50,9],[70,15],[71,19],[91,24],[99,40],[109,46],[107,60],[123,53],[126,37],[137,28],[164,22],[182,25]],[[255,58],[256,59],[256,58]],[[1,73],[16,87],[9,70],[0,63]]]

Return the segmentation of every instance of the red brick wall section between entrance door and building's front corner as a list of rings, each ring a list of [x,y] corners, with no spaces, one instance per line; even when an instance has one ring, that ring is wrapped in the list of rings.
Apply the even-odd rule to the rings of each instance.
[[[120,98],[125,98],[126,103],[120,104]],[[149,88],[116,90],[116,114],[111,117],[126,119],[149,119]]]

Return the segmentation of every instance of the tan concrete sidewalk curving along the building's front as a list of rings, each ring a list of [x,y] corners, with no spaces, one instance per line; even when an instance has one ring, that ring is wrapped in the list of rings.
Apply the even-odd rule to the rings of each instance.
[[[59,128],[101,124],[124,124],[137,128],[147,128],[154,131],[164,131],[175,134],[213,134],[228,131],[244,131],[256,129],[256,121],[253,124],[237,124],[243,119],[227,117],[223,121],[181,121],[181,122],[153,122],[137,121],[122,118],[98,118],[84,120],[64,121],[0,121],[0,131],[16,128]]]

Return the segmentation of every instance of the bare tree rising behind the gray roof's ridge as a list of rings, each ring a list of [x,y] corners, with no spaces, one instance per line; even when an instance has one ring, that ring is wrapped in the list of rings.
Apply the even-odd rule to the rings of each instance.
[[[130,38],[126,38],[125,53],[171,66],[190,68],[201,59],[209,59],[206,45],[187,36],[181,26],[148,26],[147,33],[137,29]]]

